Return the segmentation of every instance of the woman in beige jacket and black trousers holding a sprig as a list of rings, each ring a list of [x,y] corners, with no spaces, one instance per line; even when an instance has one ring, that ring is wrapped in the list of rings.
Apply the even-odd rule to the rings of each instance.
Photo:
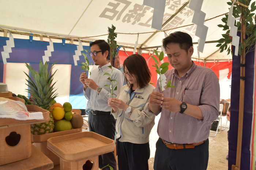
[[[148,170],[150,157],[149,134],[155,116],[146,109],[149,95],[155,89],[150,85],[151,73],[146,60],[133,54],[124,61],[127,85],[108,105],[116,121],[119,170]]]

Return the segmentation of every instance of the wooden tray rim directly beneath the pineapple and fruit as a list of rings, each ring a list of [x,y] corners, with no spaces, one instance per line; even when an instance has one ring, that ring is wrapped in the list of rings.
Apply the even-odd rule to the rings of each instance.
[[[41,142],[46,142],[47,139],[56,137],[56,136],[61,136],[61,135],[69,135],[69,134],[74,134],[82,132],[82,128],[77,128],[77,129],[71,129],[67,131],[60,131],[60,132],[53,132],[49,134],[44,134],[44,135],[33,135],[31,134],[31,142],[32,143],[41,143]]]

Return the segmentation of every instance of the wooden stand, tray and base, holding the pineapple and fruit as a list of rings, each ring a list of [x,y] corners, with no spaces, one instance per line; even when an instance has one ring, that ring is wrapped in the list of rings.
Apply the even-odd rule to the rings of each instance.
[[[66,131],[60,131],[60,132],[53,132],[49,134],[44,135],[33,135],[31,134],[31,142],[34,143],[34,146],[37,147],[41,152],[43,152],[50,160],[52,160],[54,166],[60,164],[60,158],[57,157],[55,154],[52,153],[47,148],[47,139],[56,137],[56,136],[62,136],[62,135],[68,135],[68,134],[74,134],[82,132],[82,128],[76,128]]]

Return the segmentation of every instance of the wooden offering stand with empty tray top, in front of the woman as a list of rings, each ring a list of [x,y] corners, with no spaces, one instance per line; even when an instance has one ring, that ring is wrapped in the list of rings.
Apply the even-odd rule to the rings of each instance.
[[[114,151],[114,140],[94,132],[79,132],[50,138],[47,148],[60,158],[61,170],[98,170],[98,155]]]

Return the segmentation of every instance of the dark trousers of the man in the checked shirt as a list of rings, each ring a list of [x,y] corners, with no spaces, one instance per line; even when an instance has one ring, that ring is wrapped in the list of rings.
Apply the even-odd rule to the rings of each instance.
[[[206,170],[209,140],[188,149],[170,149],[159,138],[156,143],[154,170]]]

